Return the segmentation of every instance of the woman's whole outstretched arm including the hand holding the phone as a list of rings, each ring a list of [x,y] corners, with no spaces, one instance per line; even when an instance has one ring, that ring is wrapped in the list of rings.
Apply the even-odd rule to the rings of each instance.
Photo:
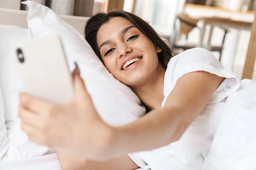
[[[20,94],[19,116],[33,142],[68,148],[90,160],[109,160],[180,139],[223,80],[204,71],[186,74],[177,80],[163,108],[128,125],[111,127],[99,117],[83,80],[74,71],[71,103],[58,105]]]

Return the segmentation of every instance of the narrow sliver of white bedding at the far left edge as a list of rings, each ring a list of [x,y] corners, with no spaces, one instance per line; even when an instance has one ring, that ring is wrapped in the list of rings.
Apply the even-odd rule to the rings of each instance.
[[[1,62],[1,61],[0,61]],[[9,148],[7,130],[4,119],[4,108],[3,108],[3,99],[0,88],[0,161],[3,156],[6,154],[6,151]]]

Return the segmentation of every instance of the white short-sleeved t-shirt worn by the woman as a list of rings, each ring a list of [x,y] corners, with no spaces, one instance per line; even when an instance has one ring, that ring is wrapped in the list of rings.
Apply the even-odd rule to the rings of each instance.
[[[165,99],[162,107],[177,79],[195,71],[207,71],[226,79],[180,140],[158,149],[129,153],[130,158],[138,166],[151,170],[199,170],[202,168],[224,112],[227,96],[239,88],[240,82],[236,74],[224,68],[211,52],[204,48],[193,48],[176,55],[169,61],[164,77]]]

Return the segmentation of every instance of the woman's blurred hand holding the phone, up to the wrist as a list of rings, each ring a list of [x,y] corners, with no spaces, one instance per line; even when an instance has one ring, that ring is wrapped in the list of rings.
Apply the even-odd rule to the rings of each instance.
[[[101,159],[108,149],[111,127],[99,117],[79,74],[76,65],[71,103],[58,105],[20,94],[22,129],[32,142],[67,148],[88,159]]]

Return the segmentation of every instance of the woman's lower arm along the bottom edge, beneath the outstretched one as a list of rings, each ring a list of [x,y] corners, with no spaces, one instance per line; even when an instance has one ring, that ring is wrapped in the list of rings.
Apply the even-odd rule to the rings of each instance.
[[[108,161],[89,161],[64,150],[57,150],[62,170],[134,170],[138,165],[128,155]]]

